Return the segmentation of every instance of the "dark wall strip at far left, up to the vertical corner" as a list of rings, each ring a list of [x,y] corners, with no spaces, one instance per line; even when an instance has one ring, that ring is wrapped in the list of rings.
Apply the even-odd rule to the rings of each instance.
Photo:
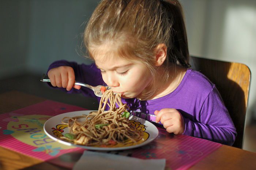
[[[29,1],[0,1],[0,78],[27,69]]]

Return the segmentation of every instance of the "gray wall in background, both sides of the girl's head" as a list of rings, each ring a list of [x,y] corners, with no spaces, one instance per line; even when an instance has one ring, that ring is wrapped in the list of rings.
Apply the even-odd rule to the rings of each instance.
[[[99,0],[1,0],[0,79],[41,75],[56,60],[91,61],[76,52]],[[256,1],[181,0],[192,55],[244,63],[252,71],[248,117],[256,119]],[[254,113],[254,114],[253,114]]]

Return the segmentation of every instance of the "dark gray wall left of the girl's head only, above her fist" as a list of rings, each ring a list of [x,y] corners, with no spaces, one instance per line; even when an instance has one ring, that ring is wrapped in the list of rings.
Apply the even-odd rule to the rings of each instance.
[[[0,79],[41,74],[56,60],[90,63],[79,55],[84,22],[96,0],[1,0]]]

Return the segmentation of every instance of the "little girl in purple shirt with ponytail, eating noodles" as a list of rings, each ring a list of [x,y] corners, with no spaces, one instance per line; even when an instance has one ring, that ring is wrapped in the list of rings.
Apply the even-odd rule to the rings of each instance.
[[[217,88],[190,69],[177,0],[102,0],[83,40],[95,64],[52,63],[52,86],[94,96],[75,80],[106,84],[122,94],[131,110],[155,114],[169,133],[234,143],[236,128]]]

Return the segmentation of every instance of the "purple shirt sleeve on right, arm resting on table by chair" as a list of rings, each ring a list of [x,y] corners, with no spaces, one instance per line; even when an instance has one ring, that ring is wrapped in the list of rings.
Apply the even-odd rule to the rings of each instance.
[[[184,118],[184,135],[200,137],[218,143],[232,145],[236,138],[236,128],[222,98],[214,86],[202,105],[195,122]]]

